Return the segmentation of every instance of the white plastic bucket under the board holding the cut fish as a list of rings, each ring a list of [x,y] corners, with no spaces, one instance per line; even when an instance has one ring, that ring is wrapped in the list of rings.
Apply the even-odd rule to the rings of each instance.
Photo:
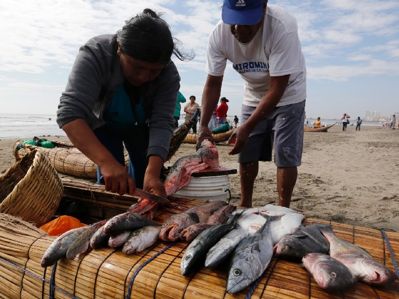
[[[227,200],[231,191],[228,175],[190,178],[189,183],[175,195],[202,201]]]

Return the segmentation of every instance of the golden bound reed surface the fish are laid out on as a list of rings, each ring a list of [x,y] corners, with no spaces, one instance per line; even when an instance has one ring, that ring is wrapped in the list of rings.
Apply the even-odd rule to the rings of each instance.
[[[200,203],[176,199],[169,206],[159,209],[155,219],[161,223],[171,214]],[[53,298],[62,299],[71,296],[82,299],[213,299],[246,298],[250,292],[248,287],[235,295],[226,294],[224,268],[201,268],[190,276],[182,276],[180,261],[188,245],[185,242],[174,244],[159,241],[133,255],[109,248],[92,250],[71,260],[60,260],[56,267],[43,269],[40,267],[41,257],[55,237],[42,236],[37,229],[26,229],[22,227],[23,222],[15,228],[15,224],[3,221],[4,215],[0,217],[0,298],[51,298],[51,291]],[[310,225],[313,221],[329,223],[320,219],[305,219],[305,224]],[[394,270],[388,243],[383,239],[382,232],[335,222],[331,224],[337,236],[365,248],[378,262]],[[398,260],[399,233],[387,232],[386,235],[394,258]],[[19,265],[22,270],[5,260]],[[299,264],[274,258],[253,287],[250,298],[399,298],[399,282],[397,280],[388,288],[356,283],[352,289],[328,293]]]

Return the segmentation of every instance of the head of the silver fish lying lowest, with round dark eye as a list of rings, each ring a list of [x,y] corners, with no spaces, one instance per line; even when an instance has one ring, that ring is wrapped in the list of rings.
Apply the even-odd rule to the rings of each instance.
[[[260,261],[253,256],[236,256],[227,277],[227,293],[234,294],[248,287],[262,274],[261,269]]]

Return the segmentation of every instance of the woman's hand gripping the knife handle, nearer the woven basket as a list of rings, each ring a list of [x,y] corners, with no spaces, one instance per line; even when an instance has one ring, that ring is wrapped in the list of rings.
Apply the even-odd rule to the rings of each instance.
[[[105,163],[100,167],[105,181],[105,190],[123,195],[129,187],[129,194],[133,195],[136,185],[129,171],[116,160],[115,162]]]

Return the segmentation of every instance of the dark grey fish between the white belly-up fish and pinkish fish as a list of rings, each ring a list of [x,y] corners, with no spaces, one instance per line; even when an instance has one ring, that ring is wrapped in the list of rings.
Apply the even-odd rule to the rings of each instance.
[[[291,234],[284,236],[274,246],[275,256],[290,260],[301,260],[308,253],[327,254],[329,243],[320,232],[320,226],[330,225],[314,223],[313,225],[295,228]]]

